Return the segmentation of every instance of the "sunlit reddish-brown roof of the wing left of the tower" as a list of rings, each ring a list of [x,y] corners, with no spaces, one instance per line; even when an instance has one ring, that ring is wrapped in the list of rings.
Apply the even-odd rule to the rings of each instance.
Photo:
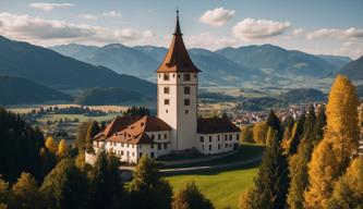
[[[171,127],[159,118],[145,115],[138,116],[137,119],[138,120],[136,121],[130,122],[128,126],[122,126],[121,130],[117,128],[120,131],[113,133],[112,135],[96,139],[135,145],[153,144],[154,140],[146,134],[146,132],[171,131]],[[126,124],[126,122],[119,122],[119,124],[123,125]],[[114,123],[112,122],[109,125],[114,125]]]

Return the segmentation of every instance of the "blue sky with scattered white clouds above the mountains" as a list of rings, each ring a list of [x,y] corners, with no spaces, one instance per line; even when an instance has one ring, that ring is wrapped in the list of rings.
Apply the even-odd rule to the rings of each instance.
[[[363,56],[363,0],[0,0],[0,35],[44,47],[168,47],[177,9],[187,48]]]

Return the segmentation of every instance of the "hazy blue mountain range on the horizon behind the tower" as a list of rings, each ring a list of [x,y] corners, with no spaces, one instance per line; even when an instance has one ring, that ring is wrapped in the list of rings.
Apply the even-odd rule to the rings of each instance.
[[[155,46],[128,47],[111,44],[105,47],[62,45],[50,49],[77,60],[105,65],[118,73],[155,81],[155,70],[161,63],[167,48]],[[194,48],[189,53],[203,71],[204,86],[241,87],[245,82],[320,78],[337,72],[350,62],[348,57],[314,56],[286,50],[273,45],[227,47],[217,51]]]

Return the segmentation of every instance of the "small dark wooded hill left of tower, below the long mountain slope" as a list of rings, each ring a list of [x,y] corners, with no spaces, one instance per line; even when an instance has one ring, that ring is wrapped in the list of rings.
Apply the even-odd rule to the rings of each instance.
[[[121,104],[130,101],[149,100],[150,98],[133,90],[122,88],[92,88],[84,90],[74,103],[82,106]]]

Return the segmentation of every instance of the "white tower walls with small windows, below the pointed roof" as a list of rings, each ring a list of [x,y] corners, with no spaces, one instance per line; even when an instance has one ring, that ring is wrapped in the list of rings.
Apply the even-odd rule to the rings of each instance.
[[[158,73],[158,118],[168,123],[173,150],[195,147],[197,73]]]

